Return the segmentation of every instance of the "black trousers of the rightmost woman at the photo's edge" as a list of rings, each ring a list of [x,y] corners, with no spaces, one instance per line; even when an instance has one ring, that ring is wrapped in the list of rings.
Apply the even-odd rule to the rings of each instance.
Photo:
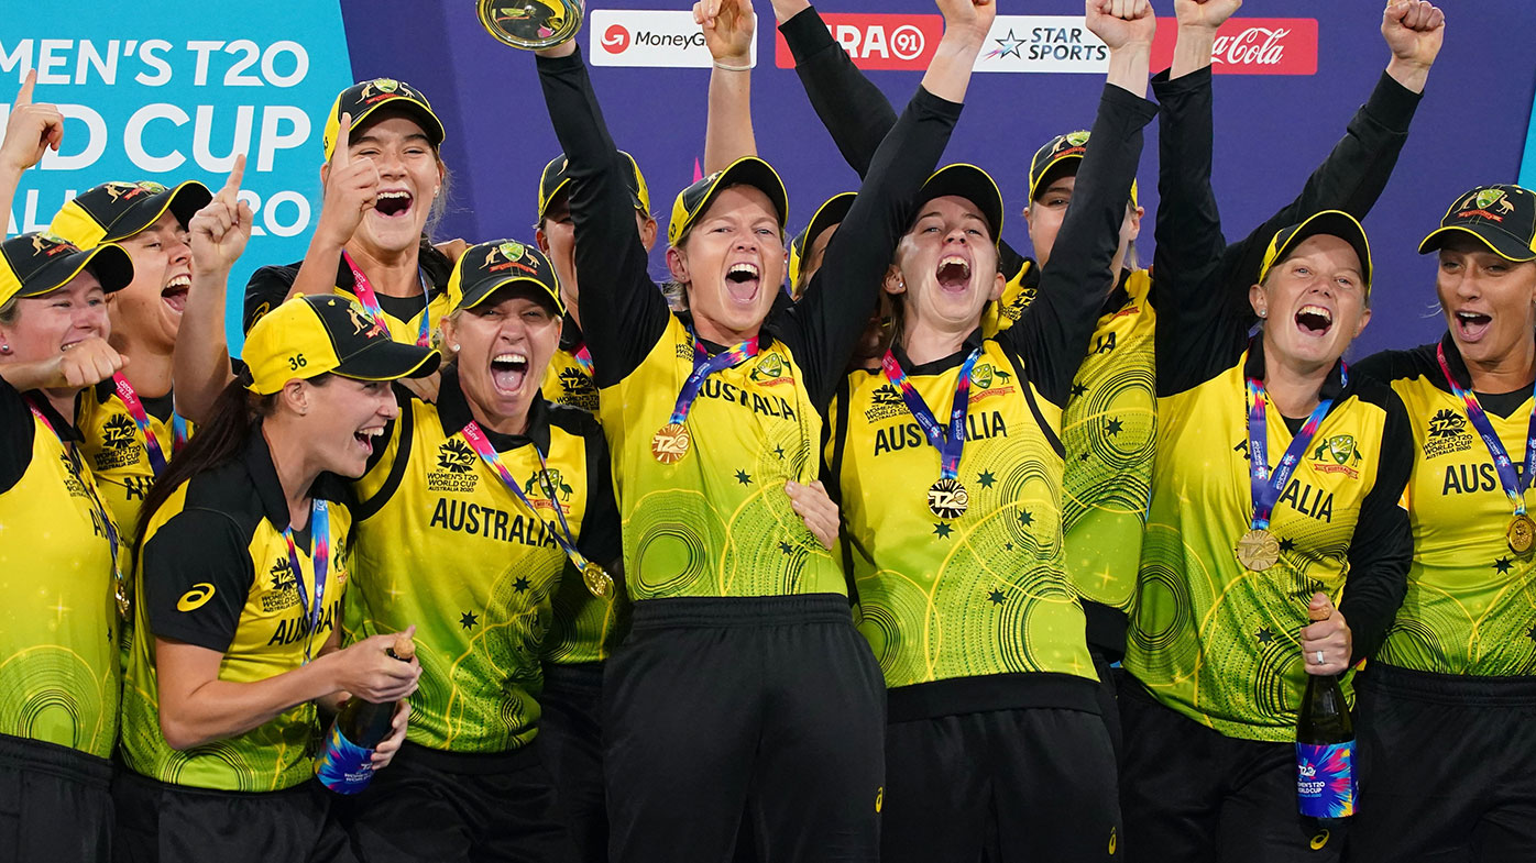
[[[1372,663],[1356,677],[1349,860],[1536,860],[1536,677]]]

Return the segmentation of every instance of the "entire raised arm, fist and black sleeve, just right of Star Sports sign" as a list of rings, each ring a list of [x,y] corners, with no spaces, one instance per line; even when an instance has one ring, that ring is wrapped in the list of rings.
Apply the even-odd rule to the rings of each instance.
[[[1144,98],[1157,15],[1147,0],[1087,0],[1087,28],[1109,46],[1109,75],[1072,206],[1051,261],[1040,272],[1031,313],[998,335],[1025,358],[1031,381],[1054,404],[1066,404],[1072,376],[1087,353],[1111,264],[1141,161],[1143,127],[1157,106]],[[1118,14],[1111,14],[1111,11]]]

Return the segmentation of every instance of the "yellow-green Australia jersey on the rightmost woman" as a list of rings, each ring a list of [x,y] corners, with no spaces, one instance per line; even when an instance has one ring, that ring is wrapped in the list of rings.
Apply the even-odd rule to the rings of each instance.
[[[1458,385],[1471,378],[1456,342],[1441,342]],[[1505,539],[1514,507],[1499,485],[1493,456],[1450,392],[1436,346],[1385,352],[1362,373],[1392,384],[1413,428],[1413,473],[1405,502],[1413,525],[1407,599],[1375,660],[1415,671],[1473,676],[1536,674],[1536,559]],[[1478,393],[1510,459],[1525,459],[1531,389]],[[1525,507],[1536,491],[1525,488]]]

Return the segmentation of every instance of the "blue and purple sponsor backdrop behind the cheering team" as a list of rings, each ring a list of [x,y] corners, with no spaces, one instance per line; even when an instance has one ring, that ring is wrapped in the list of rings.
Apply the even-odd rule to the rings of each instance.
[[[1172,8],[1158,2],[1164,14]],[[1247,0],[1218,43],[1215,187],[1227,233],[1241,236],[1287,201],[1344,131],[1387,60],[1382,3]],[[129,11],[129,8],[134,8]],[[25,69],[46,71],[40,100],[68,107],[61,155],[23,183],[11,230],[45,224],[71,190],[103,180],[223,181],[230,154],[252,154],[246,186],[258,206],[244,278],[303,255],[319,206],[319,132],[335,92],[353,78],[393,77],[424,91],[449,138],[452,207],[442,236],[531,240],[538,175],[556,152],[533,58],[481,31],[470,0],[227,0],[172,8],[88,2],[58,17],[0,25],[0,118]],[[668,9],[668,6],[671,6]],[[687,3],[590,0],[579,40],[619,144],[631,150],[665,220],[703,155],[708,51]],[[820,127],[759,2],[754,117],[759,150],[790,184],[791,229],[834,192],[857,186]],[[1358,352],[1428,341],[1433,264],[1415,253],[1452,198],[1478,183],[1536,184],[1536,63],[1508,46],[1536,43],[1536,6],[1458,0],[1450,40],[1398,174],[1367,220],[1375,241],[1375,319]],[[938,43],[925,0],[826,0],[837,40],[900,107]],[[1008,201],[1005,236],[1029,249],[1020,212],[1025,169],[1046,138],[1087,126],[1106,51],[1081,26],[1080,0],[1001,0],[977,61],[969,107],[949,160],[992,170]],[[1015,14],[1028,11],[1028,15]],[[1498,34],[1496,40],[1490,35]],[[1158,35],[1157,64],[1174,28]],[[1504,46],[1504,48],[1501,48]],[[350,72],[349,72],[350,49]],[[1530,144],[1528,144],[1530,141]],[[1157,207],[1155,134],[1141,169]],[[664,226],[665,227],[665,226]],[[1152,221],[1140,243],[1150,258]],[[653,269],[665,272],[660,250]],[[238,286],[233,293],[238,293]],[[232,296],[233,299],[233,296]],[[232,315],[233,316],[233,315]],[[238,342],[237,342],[238,344]]]

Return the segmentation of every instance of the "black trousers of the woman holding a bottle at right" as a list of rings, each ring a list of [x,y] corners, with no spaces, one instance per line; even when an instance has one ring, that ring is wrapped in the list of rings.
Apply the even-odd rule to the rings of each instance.
[[[1137,863],[1327,863],[1346,820],[1296,811],[1295,743],[1226,737],[1152,700],[1134,677],[1120,691],[1126,734],[1120,802]]]

